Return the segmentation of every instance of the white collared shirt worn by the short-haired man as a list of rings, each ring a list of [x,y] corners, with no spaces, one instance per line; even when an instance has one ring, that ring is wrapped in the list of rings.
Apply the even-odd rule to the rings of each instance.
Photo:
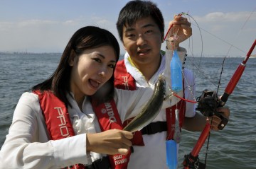
[[[181,48],[181,51],[178,52],[178,57],[181,62],[186,54],[186,49]],[[124,55],[124,64],[127,68],[127,72],[131,74],[137,82],[138,88],[151,87],[154,88],[154,83],[156,83],[157,77],[164,71],[164,74],[170,76],[170,62],[173,56],[173,51],[166,49],[165,56],[161,58],[161,65],[159,66],[156,74],[149,79],[149,83],[146,82],[146,79],[139,72],[139,70],[132,66],[129,63],[129,55],[126,53]],[[194,78],[193,73],[188,69],[183,69],[183,77],[184,77],[184,85],[185,85],[185,98],[188,100],[194,100],[194,95],[191,94],[195,91]],[[169,77],[167,77],[169,79]],[[166,79],[167,79],[166,78]],[[171,81],[166,80],[169,88],[171,88]],[[180,95],[181,96],[181,95]],[[186,114],[185,117],[193,117],[195,112],[195,104],[186,102]],[[161,112],[156,116],[153,122],[166,122],[166,110],[162,109]],[[129,169],[139,168],[139,169],[168,169],[166,165],[166,135],[167,132],[159,132],[156,134],[147,135],[144,134],[143,140],[145,146],[133,146],[134,152],[130,157],[130,161],[128,164]],[[182,141],[182,139],[181,139]],[[178,146],[178,144],[177,144]],[[178,148],[178,147],[177,147]]]

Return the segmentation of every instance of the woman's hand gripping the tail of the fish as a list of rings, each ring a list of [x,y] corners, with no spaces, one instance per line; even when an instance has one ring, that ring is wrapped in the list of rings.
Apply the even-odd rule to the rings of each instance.
[[[87,151],[104,154],[127,154],[132,146],[133,134],[131,132],[110,129],[105,132],[87,134]]]

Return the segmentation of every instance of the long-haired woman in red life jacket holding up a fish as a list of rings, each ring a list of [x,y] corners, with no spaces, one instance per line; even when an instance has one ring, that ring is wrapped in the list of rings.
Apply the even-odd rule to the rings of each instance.
[[[105,154],[119,154],[112,156],[112,168],[113,163],[127,165],[129,157],[124,155],[129,155],[133,135],[118,124],[137,115],[152,90],[115,90],[113,72],[118,59],[119,45],[112,33],[93,26],[78,30],[53,75],[18,101],[1,148],[1,166],[109,168],[108,158],[102,158]],[[114,103],[105,103],[112,98],[119,116],[112,110]]]

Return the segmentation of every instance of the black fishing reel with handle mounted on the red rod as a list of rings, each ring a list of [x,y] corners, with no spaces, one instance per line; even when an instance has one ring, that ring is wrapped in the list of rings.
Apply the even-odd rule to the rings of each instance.
[[[206,117],[212,117],[213,115],[220,117],[221,122],[218,125],[218,129],[221,130],[228,124],[228,119],[217,111],[217,108],[223,105],[223,101],[218,98],[215,91],[204,90],[202,95],[196,98],[196,101],[198,102],[196,110],[200,111],[203,115]]]

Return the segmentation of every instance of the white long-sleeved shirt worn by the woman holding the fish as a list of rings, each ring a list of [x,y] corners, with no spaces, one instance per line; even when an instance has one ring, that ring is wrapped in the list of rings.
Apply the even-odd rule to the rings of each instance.
[[[153,90],[115,90],[115,102],[122,122],[137,115],[151,98]],[[68,95],[68,106],[75,136],[60,140],[48,139],[38,95],[23,93],[14,111],[13,122],[0,151],[0,168],[63,168],[76,163],[90,164],[102,154],[87,154],[86,133],[101,132],[90,101],[85,98],[82,111]],[[125,104],[124,104],[125,103]],[[169,107],[164,102],[163,107]]]

